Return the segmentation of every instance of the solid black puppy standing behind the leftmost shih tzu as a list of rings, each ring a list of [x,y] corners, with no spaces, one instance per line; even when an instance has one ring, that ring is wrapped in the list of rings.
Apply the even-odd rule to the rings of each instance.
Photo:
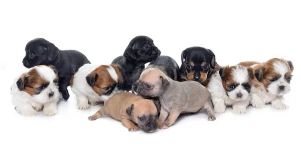
[[[23,65],[27,68],[36,65],[54,65],[59,74],[59,91],[65,100],[69,98],[67,87],[74,72],[85,63],[88,58],[76,50],[60,50],[53,43],[44,38],[35,38],[25,47],[26,55]]]

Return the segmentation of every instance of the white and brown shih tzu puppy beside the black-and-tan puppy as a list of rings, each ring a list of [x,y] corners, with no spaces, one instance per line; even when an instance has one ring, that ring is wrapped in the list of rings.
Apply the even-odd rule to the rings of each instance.
[[[227,105],[232,105],[235,114],[246,113],[250,104],[249,95],[254,73],[252,68],[240,65],[216,67],[207,88],[212,95],[215,113],[223,113]]]

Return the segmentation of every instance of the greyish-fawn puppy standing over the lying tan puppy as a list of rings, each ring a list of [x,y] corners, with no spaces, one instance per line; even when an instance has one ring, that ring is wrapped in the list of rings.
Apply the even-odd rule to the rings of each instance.
[[[157,125],[161,129],[175,123],[181,113],[195,113],[201,108],[207,109],[208,120],[215,120],[211,94],[199,82],[175,81],[158,68],[148,68],[140,75],[137,92],[143,97],[159,96],[161,113]]]

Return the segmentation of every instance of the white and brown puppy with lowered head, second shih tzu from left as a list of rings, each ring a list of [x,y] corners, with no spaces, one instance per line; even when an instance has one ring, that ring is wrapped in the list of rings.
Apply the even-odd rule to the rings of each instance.
[[[84,64],[71,77],[70,85],[76,94],[77,108],[87,109],[89,103],[105,102],[120,90],[123,82],[119,65]]]

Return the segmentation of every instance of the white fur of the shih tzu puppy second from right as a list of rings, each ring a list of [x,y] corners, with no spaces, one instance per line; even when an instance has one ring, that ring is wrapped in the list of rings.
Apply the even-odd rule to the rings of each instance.
[[[211,76],[210,82],[208,83],[208,90],[212,95],[212,103],[214,105],[215,113],[223,113],[226,110],[226,105],[232,105],[232,112],[235,114],[246,113],[246,107],[249,105],[251,97],[247,90],[242,87],[242,83],[247,82],[248,71],[246,67],[237,66],[233,69],[233,78],[240,83],[234,90],[227,91],[222,85],[222,78],[217,71]],[[241,92],[243,96],[237,98],[236,93]]]

